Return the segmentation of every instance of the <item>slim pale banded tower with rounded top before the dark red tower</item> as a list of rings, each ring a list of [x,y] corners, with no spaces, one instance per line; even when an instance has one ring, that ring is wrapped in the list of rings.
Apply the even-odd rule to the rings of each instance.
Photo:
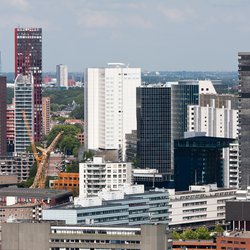
[[[15,153],[26,152],[30,146],[30,138],[23,120],[23,112],[33,136],[33,77],[19,74],[15,80]]]

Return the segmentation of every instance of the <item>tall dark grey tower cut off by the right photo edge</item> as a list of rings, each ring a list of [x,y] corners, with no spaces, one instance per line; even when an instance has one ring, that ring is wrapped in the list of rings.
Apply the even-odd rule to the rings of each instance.
[[[239,56],[239,161],[241,187],[250,184],[250,52]]]

